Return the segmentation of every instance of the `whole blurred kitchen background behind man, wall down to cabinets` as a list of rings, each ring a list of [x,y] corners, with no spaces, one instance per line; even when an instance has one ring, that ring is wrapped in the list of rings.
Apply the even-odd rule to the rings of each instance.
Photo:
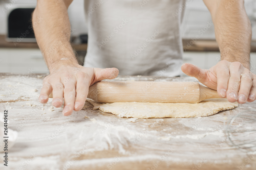
[[[57,1],[58,0],[56,0],[56,2]],[[20,11],[20,9],[15,11],[15,9],[35,8],[35,6],[35,0],[0,0],[0,72],[22,74],[27,74],[28,72],[48,73],[48,69],[35,43],[35,39],[33,37],[24,38],[22,42],[14,44],[12,41],[17,41],[17,38],[13,38],[15,37],[15,34],[12,34],[13,30],[8,29],[8,23],[12,26],[18,22],[23,22],[18,17],[20,17],[19,14],[24,14],[24,12],[22,10]],[[251,20],[253,32],[251,71],[256,73],[256,53],[254,53],[256,52],[256,48],[254,48],[254,46],[256,46],[256,0],[245,0],[245,8]],[[68,12],[71,28],[74,30],[71,34],[73,48],[77,51],[81,62],[83,62],[87,48],[84,38],[86,38],[88,31],[84,18],[83,0],[74,0]],[[188,1],[182,23],[184,47],[187,46],[187,43],[189,43],[191,39],[200,35],[199,31],[206,27],[207,22],[211,22],[211,16],[203,1]],[[191,47],[189,46],[184,52],[184,63],[190,62],[200,68],[209,69],[220,60],[215,41],[214,26],[207,28],[207,31],[199,37],[199,40]]]

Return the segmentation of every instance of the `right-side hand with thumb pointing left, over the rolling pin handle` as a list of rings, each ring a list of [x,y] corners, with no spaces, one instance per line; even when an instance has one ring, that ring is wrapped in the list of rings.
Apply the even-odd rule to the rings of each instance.
[[[220,97],[243,104],[256,98],[256,75],[240,62],[222,60],[209,70],[185,63],[182,71],[199,82],[218,91]]]

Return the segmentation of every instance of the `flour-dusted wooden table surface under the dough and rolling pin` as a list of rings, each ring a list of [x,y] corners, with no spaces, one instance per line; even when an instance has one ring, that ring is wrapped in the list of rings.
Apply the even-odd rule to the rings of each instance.
[[[243,152],[230,145],[223,124],[239,113],[255,115],[256,102],[201,119],[130,122],[92,110],[89,103],[65,117],[62,108],[51,108],[52,99],[38,102],[44,76],[0,73],[0,111],[8,110],[8,127],[18,131],[8,152],[8,167],[0,154],[0,169],[256,169],[256,151]],[[148,76],[115,80],[195,81]]]

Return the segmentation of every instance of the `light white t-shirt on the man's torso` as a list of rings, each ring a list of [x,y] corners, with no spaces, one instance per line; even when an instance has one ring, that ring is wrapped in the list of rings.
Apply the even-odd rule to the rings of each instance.
[[[85,0],[88,49],[84,67],[119,75],[178,76],[185,0]]]

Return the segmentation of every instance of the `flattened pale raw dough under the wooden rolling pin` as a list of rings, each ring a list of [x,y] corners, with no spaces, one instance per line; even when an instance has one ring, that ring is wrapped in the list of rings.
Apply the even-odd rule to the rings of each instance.
[[[87,101],[94,106],[94,110],[99,109],[120,117],[134,117],[138,119],[210,116],[222,110],[238,107],[237,102],[230,103],[227,99],[207,99],[200,103],[97,103],[89,98],[87,98]]]

